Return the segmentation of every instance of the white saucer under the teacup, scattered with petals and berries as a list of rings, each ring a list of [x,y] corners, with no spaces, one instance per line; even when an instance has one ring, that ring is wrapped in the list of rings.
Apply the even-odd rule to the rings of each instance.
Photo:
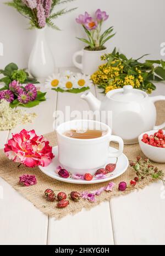
[[[111,147],[112,152],[116,152],[117,149],[114,149]],[[128,168],[129,161],[127,156],[124,154],[120,155],[118,157],[118,162],[117,162],[117,167],[116,169],[112,172],[109,173],[110,176],[108,176],[105,179],[96,179],[95,177],[92,179],[92,181],[84,181],[82,179],[73,179],[73,178],[62,178],[56,173],[56,168],[59,166],[58,162],[58,146],[53,147],[53,154],[55,155],[53,161],[51,164],[47,167],[42,167],[39,166],[40,170],[45,173],[47,176],[57,179],[58,181],[63,181],[63,182],[68,182],[68,183],[75,183],[75,184],[94,184],[94,183],[101,183],[101,182],[106,182],[106,181],[111,181],[111,179],[117,178],[120,175],[122,175]],[[114,164],[116,163],[116,158],[108,158],[106,164]],[[68,170],[69,171],[69,170]]]

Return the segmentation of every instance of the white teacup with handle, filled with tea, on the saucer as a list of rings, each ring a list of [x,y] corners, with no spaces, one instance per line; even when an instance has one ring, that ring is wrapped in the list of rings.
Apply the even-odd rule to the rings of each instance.
[[[102,130],[102,137],[95,139],[75,139],[64,135],[68,130],[97,129]],[[108,157],[118,157],[123,152],[123,140],[111,135],[112,130],[107,124],[92,120],[73,120],[57,127],[58,160],[63,168],[71,173],[84,175],[94,173],[106,165]],[[119,143],[119,150],[109,150],[110,141]]]

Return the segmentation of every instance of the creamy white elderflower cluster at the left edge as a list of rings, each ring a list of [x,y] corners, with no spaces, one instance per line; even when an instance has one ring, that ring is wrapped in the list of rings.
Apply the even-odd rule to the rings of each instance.
[[[25,110],[11,108],[6,100],[0,101],[0,130],[9,130],[18,124],[31,123],[36,116],[36,113],[26,113]]]

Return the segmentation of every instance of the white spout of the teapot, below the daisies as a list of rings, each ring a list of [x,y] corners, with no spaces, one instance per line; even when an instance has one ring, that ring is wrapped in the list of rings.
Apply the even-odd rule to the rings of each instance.
[[[98,100],[90,91],[85,92],[83,95],[81,95],[81,99],[84,99],[87,101],[90,110],[95,111],[95,110],[100,110],[101,106],[101,101]]]

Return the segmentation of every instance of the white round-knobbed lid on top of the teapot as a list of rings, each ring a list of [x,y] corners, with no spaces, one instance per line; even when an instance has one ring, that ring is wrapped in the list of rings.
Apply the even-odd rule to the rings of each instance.
[[[140,101],[146,97],[146,92],[133,89],[131,85],[124,85],[121,89],[108,92],[107,96],[113,100],[122,102]]]

